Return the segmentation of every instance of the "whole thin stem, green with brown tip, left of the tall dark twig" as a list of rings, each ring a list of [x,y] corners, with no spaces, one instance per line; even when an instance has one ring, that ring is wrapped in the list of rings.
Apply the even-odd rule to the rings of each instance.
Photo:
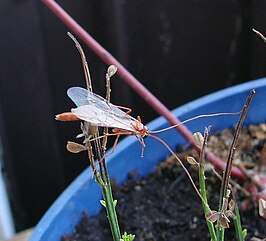
[[[203,145],[202,145],[200,157],[199,157],[199,186],[200,186],[201,196],[205,201],[205,202],[202,202],[202,208],[203,208],[205,216],[208,212],[211,211],[211,209],[208,205],[206,185],[205,185],[205,180],[206,180],[205,179],[205,170],[204,170],[204,156],[205,156],[205,148],[206,148],[206,144],[207,144],[208,135],[209,135],[208,129],[206,128],[204,131],[204,140],[203,140]],[[215,229],[214,229],[213,223],[206,220],[206,224],[207,224],[210,236],[211,236],[211,240],[216,241],[217,237],[215,234]]]

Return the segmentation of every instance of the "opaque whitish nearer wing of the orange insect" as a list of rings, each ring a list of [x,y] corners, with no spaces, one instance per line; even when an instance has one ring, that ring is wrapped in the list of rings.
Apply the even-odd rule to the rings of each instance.
[[[131,123],[135,122],[136,119],[134,119],[130,115],[127,115],[123,111],[123,116],[115,115],[113,114],[113,110],[106,112],[105,110],[99,109],[94,105],[82,105],[80,107],[72,109],[71,111],[79,119],[90,122],[95,126],[112,127],[128,131],[135,131]]]

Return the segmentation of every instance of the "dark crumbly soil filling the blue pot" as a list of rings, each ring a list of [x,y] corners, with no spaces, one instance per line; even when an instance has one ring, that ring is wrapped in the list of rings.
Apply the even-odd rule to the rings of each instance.
[[[252,127],[253,128],[253,127]],[[248,168],[253,168],[254,160],[258,160],[265,145],[265,125],[244,130],[240,137],[237,159],[245,158]],[[264,129],[263,129],[264,128]],[[259,134],[258,134],[259,132]],[[259,137],[258,137],[259,135]],[[248,138],[247,138],[248,137]],[[225,130],[210,138],[209,148],[215,147],[216,152],[223,150],[232,140],[232,131]],[[220,149],[219,149],[220,148]],[[220,150],[220,151],[219,151]],[[190,153],[191,154],[191,153]],[[181,154],[184,158],[187,153]],[[223,157],[223,154],[221,154]],[[244,157],[243,157],[244,155]],[[180,156],[180,155],[179,155]],[[253,164],[252,164],[253,163]],[[188,167],[197,183],[197,171]],[[206,173],[210,206],[217,209],[220,180],[210,169]],[[245,183],[240,183],[245,185]],[[122,187],[115,187],[115,199],[118,200],[117,212],[121,230],[136,235],[136,241],[178,241],[178,240],[210,240],[202,211],[201,201],[192,185],[173,158],[161,163],[157,171],[148,177],[131,174]],[[239,206],[247,203],[243,192],[239,192]],[[242,224],[248,230],[246,240],[251,237],[266,237],[266,220],[259,217],[257,207],[249,206],[241,209]],[[62,241],[111,241],[106,213],[103,209],[98,216],[87,218],[84,213],[73,234],[66,234]],[[226,230],[225,240],[236,240],[233,221]]]

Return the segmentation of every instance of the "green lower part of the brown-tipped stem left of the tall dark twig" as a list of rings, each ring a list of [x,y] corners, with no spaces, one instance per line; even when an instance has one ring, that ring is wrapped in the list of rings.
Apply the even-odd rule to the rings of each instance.
[[[202,207],[203,207],[204,214],[206,215],[208,212],[211,211],[211,209],[209,208],[209,205],[208,205],[206,186],[205,186],[205,171],[204,171],[204,167],[202,165],[199,168],[199,185],[200,185],[200,194],[205,201],[205,203],[202,202]],[[211,223],[207,220],[206,220],[206,223],[207,223],[209,233],[211,235],[211,240],[217,241],[213,223]]]

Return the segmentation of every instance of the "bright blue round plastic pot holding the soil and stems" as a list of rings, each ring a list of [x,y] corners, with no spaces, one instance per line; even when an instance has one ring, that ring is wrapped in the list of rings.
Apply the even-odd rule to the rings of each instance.
[[[185,120],[199,114],[239,111],[251,89],[256,90],[255,98],[248,111],[245,124],[266,121],[266,78],[240,84],[222,91],[199,98],[173,111],[180,120]],[[220,116],[202,118],[187,123],[191,132],[204,131],[205,126],[212,125],[212,131],[231,127],[236,124],[238,116]],[[163,117],[159,117],[148,125],[150,130],[158,130],[168,126]],[[176,132],[170,130],[158,135],[173,149],[185,140]],[[137,171],[147,175],[155,170],[158,162],[163,161],[169,152],[158,141],[147,137],[144,157],[141,158],[141,145],[135,137],[127,137],[121,141],[115,153],[108,159],[110,176],[123,183],[128,173]],[[36,226],[30,241],[58,241],[61,235],[70,233],[78,223],[82,211],[86,210],[90,216],[99,213],[101,205],[101,190],[91,178],[92,170],[87,168],[61,194]],[[119,205],[119,202],[118,202]]]

